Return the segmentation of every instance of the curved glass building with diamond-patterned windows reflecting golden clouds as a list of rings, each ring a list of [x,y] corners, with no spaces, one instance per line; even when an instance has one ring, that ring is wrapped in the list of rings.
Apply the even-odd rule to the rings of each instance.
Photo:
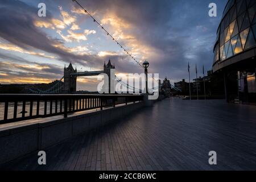
[[[228,101],[256,104],[256,0],[229,0],[214,44],[213,72]]]

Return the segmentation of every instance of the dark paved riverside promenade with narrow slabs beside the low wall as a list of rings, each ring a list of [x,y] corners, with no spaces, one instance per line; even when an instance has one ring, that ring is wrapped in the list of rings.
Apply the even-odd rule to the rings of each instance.
[[[208,152],[217,152],[210,166]],[[2,166],[22,170],[256,169],[256,106],[223,100],[156,102],[110,126]]]

